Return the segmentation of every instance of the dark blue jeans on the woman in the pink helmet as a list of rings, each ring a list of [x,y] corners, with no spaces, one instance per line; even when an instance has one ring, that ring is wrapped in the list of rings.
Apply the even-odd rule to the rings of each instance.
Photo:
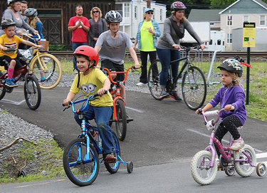
[[[162,63],[162,72],[159,75],[159,84],[162,88],[165,88],[169,74],[169,66],[172,66],[172,78],[177,76],[179,62],[172,63],[171,65],[171,61],[179,59],[181,57],[181,53],[177,50],[157,48],[157,56],[159,57],[160,63]]]

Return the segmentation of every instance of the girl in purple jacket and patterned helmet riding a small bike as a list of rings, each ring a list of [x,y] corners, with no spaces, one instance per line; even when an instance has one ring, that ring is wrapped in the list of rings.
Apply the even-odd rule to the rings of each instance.
[[[221,113],[221,123],[215,132],[215,137],[221,142],[226,132],[230,132],[234,137],[234,143],[231,150],[240,150],[244,147],[244,140],[241,138],[237,127],[241,127],[246,122],[245,92],[238,78],[242,75],[242,66],[235,59],[226,59],[218,68],[221,70],[221,83],[214,98],[203,108],[203,112],[214,108],[220,103],[220,108],[224,108]],[[232,110],[234,108],[234,110]],[[230,111],[231,110],[231,111]],[[199,111],[196,112],[199,114]],[[215,145],[216,147],[216,145]],[[218,156],[220,152],[216,147]]]

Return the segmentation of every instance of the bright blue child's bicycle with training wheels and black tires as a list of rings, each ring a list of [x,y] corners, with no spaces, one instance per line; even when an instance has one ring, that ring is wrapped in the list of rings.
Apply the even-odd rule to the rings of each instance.
[[[98,134],[98,127],[94,127],[90,122],[85,121],[85,110],[89,108],[90,101],[98,99],[98,94],[90,95],[82,100],[70,101],[66,108],[72,106],[73,113],[77,113],[82,120],[81,134],[78,139],[72,140],[63,152],[63,167],[71,182],[78,186],[87,186],[92,184],[98,177],[100,165],[114,174],[121,163],[127,164],[127,172],[131,173],[133,169],[132,162],[124,162],[120,157],[120,144],[115,132],[112,132],[112,142],[115,147],[115,157],[117,162],[105,162],[103,157],[102,140]],[[83,103],[81,108],[75,110],[75,104]],[[64,110],[66,110],[66,108]]]

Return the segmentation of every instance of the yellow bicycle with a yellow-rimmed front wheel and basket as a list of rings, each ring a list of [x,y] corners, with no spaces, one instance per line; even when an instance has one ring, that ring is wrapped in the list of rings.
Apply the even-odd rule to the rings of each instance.
[[[23,34],[23,36],[32,39],[36,44],[40,39],[39,34],[38,38],[32,38],[28,34]],[[34,47],[26,50],[19,49],[19,52],[28,63],[29,72],[36,75],[41,88],[50,89],[58,85],[63,73],[61,62],[58,61],[58,58],[48,53],[48,51],[40,51]],[[42,80],[41,77],[45,79]]]

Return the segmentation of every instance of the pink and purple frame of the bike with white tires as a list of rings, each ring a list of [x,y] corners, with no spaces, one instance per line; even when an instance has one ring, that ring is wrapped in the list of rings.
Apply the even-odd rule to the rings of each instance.
[[[211,122],[211,125],[213,126],[212,128],[212,132],[211,132],[211,137],[209,138],[209,145],[205,148],[206,151],[211,151],[211,162],[209,162],[208,167],[214,167],[214,162],[215,162],[215,158],[216,158],[216,150],[214,147],[214,144],[218,147],[219,152],[221,153],[221,157],[224,158],[224,162],[231,162],[231,155],[234,152],[233,150],[230,150],[231,145],[234,142],[233,137],[231,136],[230,142],[229,142],[229,146],[224,147],[221,142],[219,142],[219,140],[215,137],[215,125],[216,122],[219,121],[219,115],[224,111],[224,108],[222,108],[221,110],[218,111],[217,113],[217,118],[215,121]],[[207,124],[207,119],[206,116],[202,113],[203,117],[204,117],[204,124]],[[228,153],[227,153],[228,152]],[[237,150],[236,152],[239,152],[239,150]],[[242,151],[241,152],[246,155],[246,160],[234,160],[234,162],[248,162],[249,165],[251,165],[251,167],[256,167],[256,165],[252,165],[251,163],[251,157],[245,152]]]

